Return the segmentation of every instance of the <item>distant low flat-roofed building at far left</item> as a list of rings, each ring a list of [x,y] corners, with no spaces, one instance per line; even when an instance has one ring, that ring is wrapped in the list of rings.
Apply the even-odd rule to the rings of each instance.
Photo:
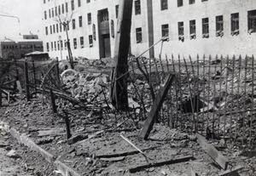
[[[44,51],[43,41],[37,35],[24,35],[21,39],[4,38],[0,42],[0,57],[3,60],[19,60],[33,51]]]

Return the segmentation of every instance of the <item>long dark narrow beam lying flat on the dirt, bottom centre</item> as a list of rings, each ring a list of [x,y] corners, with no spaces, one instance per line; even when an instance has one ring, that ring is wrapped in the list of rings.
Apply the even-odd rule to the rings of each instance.
[[[174,158],[172,160],[169,161],[164,161],[164,162],[155,162],[155,163],[149,163],[146,165],[142,165],[142,166],[138,166],[138,167],[133,167],[130,168],[129,171],[130,173],[136,173],[138,171],[143,170],[144,168],[149,168],[149,167],[161,167],[167,164],[174,164],[177,162],[188,162],[189,160],[193,160],[194,157],[193,156],[183,156],[183,157],[179,157],[179,158]]]

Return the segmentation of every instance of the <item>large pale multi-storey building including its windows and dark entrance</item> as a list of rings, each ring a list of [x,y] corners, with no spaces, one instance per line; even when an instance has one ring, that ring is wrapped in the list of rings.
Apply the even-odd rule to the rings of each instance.
[[[43,0],[44,51],[67,58],[67,33],[73,57],[113,57],[119,0]],[[67,29],[60,24],[60,20]],[[66,33],[67,31],[67,33]],[[254,0],[134,0],[131,54],[255,54]]]

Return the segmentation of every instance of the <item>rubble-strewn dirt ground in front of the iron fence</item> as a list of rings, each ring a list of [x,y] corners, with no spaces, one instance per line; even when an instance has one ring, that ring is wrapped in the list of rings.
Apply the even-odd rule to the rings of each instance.
[[[91,68],[91,67],[90,67]],[[95,71],[95,69],[92,69]],[[106,71],[97,69],[96,72]],[[88,70],[87,70],[88,71]],[[63,114],[54,114],[49,94],[38,94],[26,102],[20,95],[17,101],[3,102],[0,108],[0,121],[8,123],[20,133],[26,133],[37,145],[49,151],[55,158],[71,167],[80,175],[219,175],[224,170],[207,155],[197,142],[195,133],[168,128],[157,123],[148,140],[138,139],[143,122],[131,118],[132,111],[113,113],[113,111],[88,111],[80,106],[66,105],[70,119],[72,136],[80,136],[79,142],[68,145],[67,131]],[[44,101],[42,101],[44,99]],[[58,101],[58,100],[57,100]],[[63,103],[63,102],[62,102]],[[38,153],[15,139],[6,138],[9,145],[0,150],[3,154],[14,149],[21,157],[9,158],[2,164],[14,167],[13,175],[54,175],[56,169],[43,160]],[[135,149],[123,137],[129,139]],[[233,145],[231,141],[210,139],[228,161],[228,169],[241,166],[237,172],[225,175],[256,175],[256,150]],[[2,156],[2,154],[1,154]],[[180,159],[180,160],[178,160]],[[172,161],[173,163],[171,163]],[[169,162],[169,163],[166,163]],[[14,165],[12,165],[12,164]],[[154,163],[163,163],[154,165]],[[18,165],[16,165],[18,164]],[[145,166],[146,167],[140,167]],[[4,170],[2,172],[7,172]],[[20,172],[20,173],[19,173]],[[19,173],[19,174],[18,174]]]

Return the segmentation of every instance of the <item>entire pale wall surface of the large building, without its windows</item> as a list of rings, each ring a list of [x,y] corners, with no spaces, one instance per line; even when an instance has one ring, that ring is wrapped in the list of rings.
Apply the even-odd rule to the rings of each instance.
[[[177,7],[178,0],[167,0],[168,9],[161,10],[160,8],[160,0],[152,1],[153,7],[153,23],[154,23],[154,33],[153,40],[149,44],[148,40],[148,2],[146,0],[141,0],[141,14],[135,14],[135,3],[136,0],[133,1],[132,8],[132,24],[131,24],[131,54],[139,55],[142,54],[143,51],[148,49],[148,47],[160,41],[162,37],[161,26],[168,24],[169,26],[169,42],[163,43],[161,48],[161,44],[158,44],[154,47],[154,57],[158,58],[159,54],[162,56],[171,57],[172,54],[177,55],[181,54],[184,57],[189,54],[195,57],[196,54],[255,54],[254,46],[256,46],[255,35],[256,33],[249,34],[247,29],[247,11],[256,9],[256,1],[253,0],[208,0],[205,2],[201,2],[201,0],[195,0],[195,3],[189,4],[189,0],[183,0],[183,6]],[[113,29],[114,36],[110,34],[110,46],[111,46],[111,57],[113,57],[113,49],[115,42],[115,32],[117,26],[117,18],[116,18],[116,9],[115,6],[118,5],[119,0],[90,0],[90,3],[87,3],[87,0],[80,0],[81,6],[79,7],[79,0],[74,0],[74,10],[71,9],[71,0],[63,1],[63,0],[45,0],[42,1],[43,7],[43,16],[44,12],[47,14],[47,18],[43,20],[44,26],[44,34],[45,34],[45,26],[48,27],[48,35],[44,35],[44,48],[45,52],[47,51],[46,44],[49,43],[49,56],[50,57],[58,57],[61,59],[67,58],[67,49],[63,47],[63,50],[58,49],[57,43],[59,41],[59,37],[61,36],[61,40],[66,40],[66,33],[63,31],[50,34],[49,26],[55,26],[58,24],[56,18],[49,18],[49,9],[50,12],[52,8],[59,7],[61,4],[68,3],[68,13],[61,15],[67,16],[71,15],[73,12],[73,19],[76,22],[76,29],[72,29],[72,21],[69,25],[68,35],[70,38],[71,48],[73,52],[73,57],[86,57],[88,59],[99,59],[101,57],[100,48],[101,41],[99,26],[98,26],[98,12],[102,9],[108,9],[108,23],[111,26],[111,21],[113,20]],[[87,14],[91,13],[91,24],[88,25]],[[232,36],[231,26],[230,26],[230,14],[239,13],[239,28],[240,34]],[[224,17],[224,36],[216,37],[216,16],[223,15]],[[83,26],[79,27],[79,16],[83,18]],[[202,19],[209,19],[209,37],[202,37]],[[190,39],[189,34],[189,20],[195,20],[196,26],[196,38]],[[184,41],[178,40],[178,22],[183,22],[183,30],[184,30]],[[96,28],[96,39],[93,40],[93,46],[90,47],[89,44],[89,35],[93,35],[92,26],[95,25]],[[136,37],[136,28],[142,28],[142,37],[143,40],[141,43],[137,43]],[[110,31],[111,33],[111,31]],[[81,48],[79,43],[79,38],[84,37],[84,48]],[[73,38],[77,38],[77,48],[73,46]],[[153,43],[152,43],[153,42]],[[51,43],[56,43],[56,49],[51,48]],[[63,44],[64,45],[64,44]],[[149,52],[143,54],[145,57],[149,57]]]

